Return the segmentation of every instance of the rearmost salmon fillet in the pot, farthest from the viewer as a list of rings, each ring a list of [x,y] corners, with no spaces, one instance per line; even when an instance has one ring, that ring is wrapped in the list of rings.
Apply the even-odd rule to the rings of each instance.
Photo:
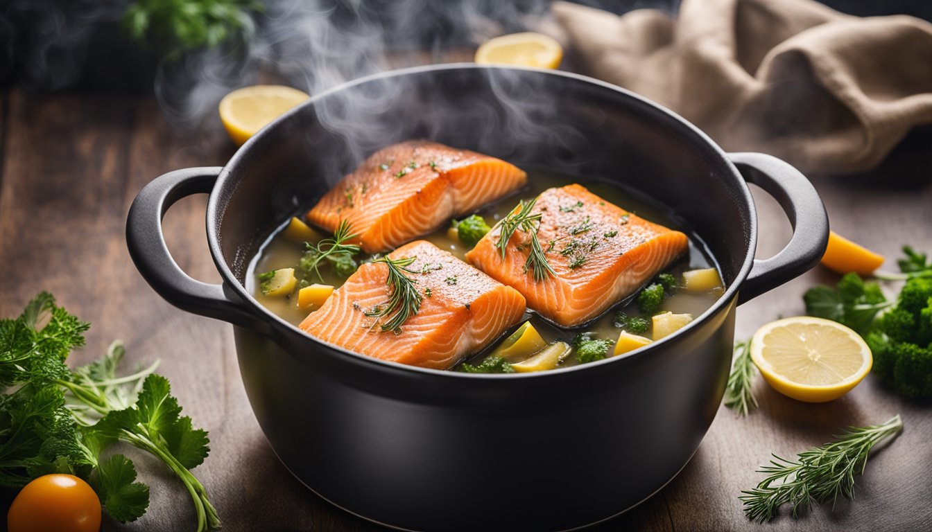
[[[495,157],[426,141],[383,148],[308,211],[331,233],[343,220],[365,252],[387,252],[524,186],[528,174]]]

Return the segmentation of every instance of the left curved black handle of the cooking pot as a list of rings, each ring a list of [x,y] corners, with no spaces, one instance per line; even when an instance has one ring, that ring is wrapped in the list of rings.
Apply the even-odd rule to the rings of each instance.
[[[187,312],[255,328],[259,321],[240,296],[224,284],[211,284],[187,275],[171,258],[162,218],[176,201],[193,194],[209,194],[221,167],[170,171],[143,187],[130,206],[126,244],[132,262],[150,286],[166,301]]]

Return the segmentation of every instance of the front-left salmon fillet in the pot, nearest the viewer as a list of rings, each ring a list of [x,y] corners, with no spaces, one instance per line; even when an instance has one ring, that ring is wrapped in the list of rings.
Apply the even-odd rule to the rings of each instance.
[[[401,331],[382,331],[365,315],[389,300],[385,264],[359,266],[343,286],[301,322],[301,329],[325,342],[383,361],[447,369],[487,347],[521,320],[525,298],[450,252],[417,240],[389,254],[392,259],[417,257],[409,269],[421,293],[417,314]]]

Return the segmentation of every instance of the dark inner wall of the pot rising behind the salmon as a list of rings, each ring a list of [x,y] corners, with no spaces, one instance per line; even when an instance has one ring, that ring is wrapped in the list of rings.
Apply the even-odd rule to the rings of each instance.
[[[354,82],[282,116],[245,144],[211,198],[208,226],[216,231],[221,272],[254,301],[244,277],[277,226],[300,216],[364,157],[418,138],[617,184],[704,242],[726,285],[743,280],[754,246],[751,199],[703,133],[582,76],[475,65]]]

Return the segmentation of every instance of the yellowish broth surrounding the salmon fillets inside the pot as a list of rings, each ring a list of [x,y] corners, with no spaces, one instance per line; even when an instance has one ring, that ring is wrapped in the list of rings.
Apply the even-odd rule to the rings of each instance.
[[[508,215],[508,213],[514,209],[515,205],[517,205],[520,199],[527,200],[530,198],[535,198],[548,188],[564,186],[572,183],[583,184],[583,186],[588,188],[597,196],[606,199],[610,203],[618,205],[626,211],[635,212],[638,216],[646,218],[651,222],[665,225],[671,229],[678,229],[686,233],[690,237],[689,252],[684,254],[670,266],[667,266],[664,270],[666,273],[673,274],[677,280],[681,278],[682,272],[686,270],[715,266],[710,258],[706,255],[706,252],[704,252],[704,246],[694,235],[690,233],[688,228],[678,226],[671,221],[670,217],[667,216],[665,212],[643,201],[639,201],[636,198],[633,198],[630,194],[626,194],[624,190],[611,184],[602,182],[586,181],[579,178],[572,178],[566,175],[555,174],[553,172],[530,170],[528,171],[528,186],[518,190],[515,194],[507,198],[502,198],[499,201],[496,201],[495,203],[492,203],[476,211],[476,213],[484,216],[489,225],[495,225],[496,222],[498,222],[504,216]],[[301,215],[298,214],[298,217],[301,218]],[[469,248],[466,248],[459,241],[459,239],[450,238],[450,235],[447,231],[448,228],[449,225],[444,225],[430,235],[424,236],[423,239],[430,240],[438,248],[452,252],[459,259],[465,260],[465,255],[466,252],[469,251]],[[254,261],[250,265],[250,269],[246,276],[246,289],[250,293],[253,293],[256,300],[258,300],[263,306],[267,307],[275,314],[281,316],[282,319],[291,322],[295,326],[308,316],[307,309],[297,306],[296,293],[293,293],[289,297],[265,295],[259,290],[259,283],[256,281],[256,275],[261,272],[267,272],[278,268],[295,267],[304,252],[305,247],[303,244],[286,239],[280,230],[270,239],[268,239],[267,243],[263,246],[259,254],[255,257]],[[369,255],[360,254],[356,256],[356,260],[362,262],[368,257]],[[336,276],[330,270],[330,268],[322,268],[321,273],[323,281],[317,279],[315,276],[311,282],[323,282],[325,284],[332,284],[336,287],[339,287],[344,281],[343,278]],[[678,290],[676,293],[667,295],[661,307],[654,313],[670,311],[676,314],[689,313],[692,314],[693,317],[698,317],[700,314],[705,312],[706,309],[711,307],[716,300],[718,300],[720,293],[720,291],[712,291],[708,293],[688,293],[683,290]],[[614,307],[610,307],[610,309],[605,312],[605,314],[596,318],[596,320],[591,321],[583,327],[576,329],[563,329],[557,327],[553,323],[543,320],[535,312],[529,309],[528,319],[531,324],[538,330],[538,332],[540,332],[543,339],[548,343],[563,341],[571,344],[573,337],[581,332],[591,332],[598,338],[611,340],[612,347],[609,349],[609,356],[611,356],[612,349],[614,347],[614,341],[618,338],[618,334],[621,332],[621,329],[614,325],[615,314],[621,310],[624,311],[624,313],[628,316],[642,316],[633,299],[633,297],[629,297],[627,300],[620,302],[620,304],[615,305]],[[645,316],[645,318],[650,321],[651,316],[648,315]],[[516,328],[517,327],[514,327],[503,334],[502,339],[507,337],[508,334],[514,332]],[[651,338],[651,333],[652,331],[649,330],[647,333],[642,335]],[[487,353],[494,349],[500,343],[500,341],[501,340],[494,342],[491,347],[473,355],[467,361],[470,363],[478,363],[479,361],[482,361],[487,356]],[[575,357],[569,356],[564,361],[561,361],[558,367],[567,367],[570,365],[575,365],[576,363],[578,362],[576,361]]]

